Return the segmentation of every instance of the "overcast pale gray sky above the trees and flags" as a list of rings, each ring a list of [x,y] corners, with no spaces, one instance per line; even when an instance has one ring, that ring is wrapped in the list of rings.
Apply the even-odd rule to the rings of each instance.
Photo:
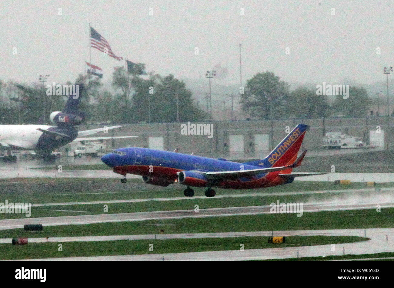
[[[30,83],[45,73],[49,81],[74,81],[89,61],[90,22],[115,55],[161,75],[200,78],[220,64],[228,70],[221,81],[239,83],[241,42],[244,83],[269,70],[288,82],[368,84],[394,65],[393,9],[389,0],[2,0],[0,79]],[[91,55],[104,82],[124,65],[93,48]]]

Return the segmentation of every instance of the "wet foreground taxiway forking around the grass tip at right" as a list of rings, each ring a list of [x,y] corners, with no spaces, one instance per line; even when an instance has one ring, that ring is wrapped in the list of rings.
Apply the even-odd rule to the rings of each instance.
[[[299,231],[275,231],[274,236],[365,236],[371,240],[335,244],[303,246],[303,247],[279,247],[266,249],[247,249],[229,251],[206,251],[191,253],[168,253],[168,254],[144,254],[144,255],[119,255],[98,257],[67,257],[34,260],[264,260],[284,259],[298,257],[318,257],[329,255],[360,255],[394,251],[394,228],[372,228],[372,229],[333,229],[333,230],[299,230]],[[218,235],[220,234],[220,235]],[[239,236],[270,236],[271,231],[260,232],[236,232],[236,233],[199,233],[199,234],[161,234],[161,236],[175,238],[202,238],[203,237],[239,237]],[[126,235],[151,237],[152,235]],[[157,235],[159,236],[159,235]],[[190,237],[191,236],[191,237]],[[168,238],[167,238],[168,239]],[[134,239],[133,239],[134,240]],[[334,251],[333,251],[334,250]]]

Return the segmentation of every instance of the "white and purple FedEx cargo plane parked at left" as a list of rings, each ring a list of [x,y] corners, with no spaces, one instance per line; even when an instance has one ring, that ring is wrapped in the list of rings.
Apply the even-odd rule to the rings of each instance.
[[[0,149],[1,150],[34,150],[43,155],[44,159],[54,157],[52,151],[72,141],[88,141],[110,138],[130,138],[137,136],[119,137],[85,137],[107,129],[121,126],[103,127],[85,131],[78,131],[74,126],[85,120],[85,113],[78,111],[81,100],[83,84],[79,84],[79,95],[74,98],[70,95],[63,111],[50,114],[50,121],[56,126],[48,125],[0,125]],[[16,159],[13,159],[14,161]]]

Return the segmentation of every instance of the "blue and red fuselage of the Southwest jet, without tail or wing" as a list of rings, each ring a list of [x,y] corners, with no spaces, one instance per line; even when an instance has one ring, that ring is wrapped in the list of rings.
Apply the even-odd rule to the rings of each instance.
[[[104,155],[102,161],[113,168],[115,173],[126,175],[136,174],[151,177],[152,183],[157,179],[162,183],[166,179],[173,183],[178,181],[178,172],[181,171],[236,171],[264,168],[246,163],[232,162],[225,159],[212,159],[169,151],[153,150],[148,148],[120,148]],[[267,165],[267,164],[266,164]],[[269,166],[269,165],[268,165]],[[262,173],[252,177],[240,177],[230,180],[208,181],[203,175],[195,173],[195,177],[186,179],[184,185],[188,186],[216,186],[229,189],[250,189],[290,183],[289,179],[278,177],[280,172]],[[182,183],[183,184],[183,183]],[[166,186],[166,185],[162,185]]]

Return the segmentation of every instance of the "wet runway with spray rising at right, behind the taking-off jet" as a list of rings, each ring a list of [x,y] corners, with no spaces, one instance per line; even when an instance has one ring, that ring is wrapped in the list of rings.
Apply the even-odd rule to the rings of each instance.
[[[394,203],[382,204],[381,208],[394,207]],[[95,214],[78,216],[59,216],[42,218],[19,218],[0,220],[0,230],[23,228],[25,224],[42,224],[43,226],[56,225],[76,225],[107,222],[130,222],[154,219],[181,219],[199,218],[212,216],[235,216],[235,215],[256,215],[269,214],[271,206],[247,206],[229,208],[211,208],[194,210],[173,210],[173,211],[154,211],[154,212],[134,212],[117,214]],[[376,204],[305,204],[303,212],[336,211],[336,210],[359,210],[376,209]]]

